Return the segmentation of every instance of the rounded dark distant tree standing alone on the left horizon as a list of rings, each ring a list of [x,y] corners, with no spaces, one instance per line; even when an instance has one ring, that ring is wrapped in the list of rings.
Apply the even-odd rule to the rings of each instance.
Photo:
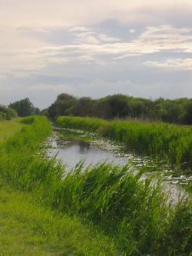
[[[21,101],[15,101],[10,104],[10,107],[17,111],[19,117],[35,115],[34,105],[29,98],[24,98]]]

